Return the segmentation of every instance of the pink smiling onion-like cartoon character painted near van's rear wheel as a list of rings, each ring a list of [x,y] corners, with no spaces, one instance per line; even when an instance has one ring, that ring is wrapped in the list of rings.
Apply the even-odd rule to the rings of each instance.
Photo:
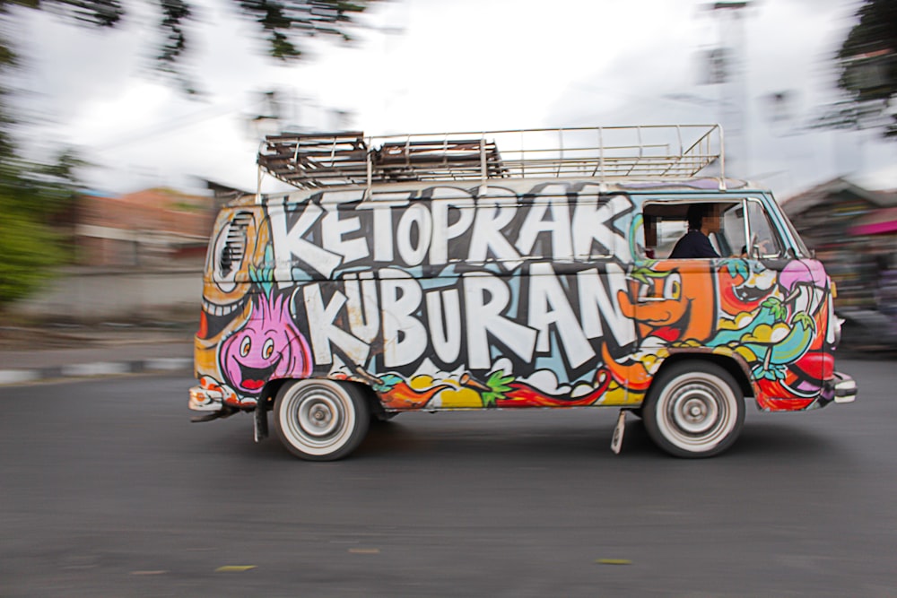
[[[311,373],[309,342],[293,324],[285,297],[260,295],[246,325],[222,343],[222,373],[238,394],[260,394],[271,378]]]

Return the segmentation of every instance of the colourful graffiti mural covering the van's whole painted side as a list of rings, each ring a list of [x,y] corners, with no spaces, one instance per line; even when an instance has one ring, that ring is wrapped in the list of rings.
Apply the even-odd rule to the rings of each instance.
[[[213,251],[252,249],[226,295],[206,281],[197,371],[239,407],[279,377],[360,380],[388,409],[633,405],[700,349],[741,360],[765,409],[812,404],[832,368],[821,266],[641,259],[635,208],[574,182],[239,206],[251,226],[220,225]]]

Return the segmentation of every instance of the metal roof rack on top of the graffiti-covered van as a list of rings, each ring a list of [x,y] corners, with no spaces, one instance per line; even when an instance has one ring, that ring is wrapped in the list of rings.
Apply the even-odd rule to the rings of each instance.
[[[501,153],[499,146],[501,145]],[[265,138],[259,168],[301,189],[396,181],[588,177],[683,179],[719,161],[718,125],[523,129],[365,137],[345,131]]]

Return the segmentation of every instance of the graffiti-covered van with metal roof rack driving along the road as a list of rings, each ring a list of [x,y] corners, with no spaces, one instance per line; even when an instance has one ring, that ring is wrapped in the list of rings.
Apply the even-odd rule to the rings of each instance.
[[[268,413],[304,459],[402,412],[615,407],[684,457],[764,412],[849,403],[835,293],[718,126],[282,134],[283,192],[226,205],[189,406]],[[671,258],[690,206],[715,256]],[[692,208],[693,210],[693,208]],[[695,225],[698,226],[698,225]],[[689,233],[691,234],[691,233]]]

